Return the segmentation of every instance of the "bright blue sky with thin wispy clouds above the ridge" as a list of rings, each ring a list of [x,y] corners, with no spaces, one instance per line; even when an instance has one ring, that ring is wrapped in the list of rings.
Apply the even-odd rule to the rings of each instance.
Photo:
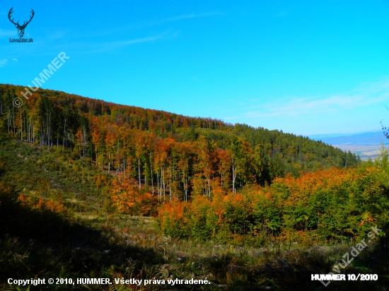
[[[33,43],[9,42],[11,7]],[[1,1],[0,83],[60,52],[42,88],[302,135],[389,125],[388,1]]]

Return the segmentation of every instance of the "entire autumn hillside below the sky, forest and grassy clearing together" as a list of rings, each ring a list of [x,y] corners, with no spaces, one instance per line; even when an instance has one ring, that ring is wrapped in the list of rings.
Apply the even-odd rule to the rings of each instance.
[[[310,273],[331,271],[376,226],[373,247],[347,272],[388,278],[384,148],[362,162],[282,131],[40,88],[25,100],[22,90],[0,85],[5,274],[208,275],[209,290],[317,290]]]

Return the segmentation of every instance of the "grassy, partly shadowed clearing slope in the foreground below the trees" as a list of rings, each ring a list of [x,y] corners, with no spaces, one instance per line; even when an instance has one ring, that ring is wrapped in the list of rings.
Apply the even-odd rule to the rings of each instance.
[[[0,289],[7,278],[209,278],[199,285],[170,290],[324,290],[310,273],[327,273],[351,246],[279,251],[197,244],[158,234],[153,218],[111,212],[112,177],[86,160],[71,160],[62,150],[36,148],[0,137]],[[99,187],[96,179],[104,181]],[[63,203],[66,213],[18,203],[20,194]],[[372,259],[373,258],[373,259]],[[364,250],[342,273],[385,274],[388,254]],[[331,283],[327,290],[383,290],[377,282]],[[1,285],[3,284],[3,285]],[[346,285],[347,284],[347,287]],[[218,287],[219,285],[219,287]],[[44,289],[48,285],[40,286]],[[69,290],[161,290],[137,286],[58,286]],[[320,289],[321,288],[321,289]],[[32,286],[30,290],[37,290]],[[27,290],[27,287],[21,288]]]

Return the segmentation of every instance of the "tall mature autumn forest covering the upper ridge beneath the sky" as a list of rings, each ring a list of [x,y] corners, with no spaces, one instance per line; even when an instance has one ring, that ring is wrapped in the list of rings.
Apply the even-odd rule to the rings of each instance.
[[[38,89],[23,106],[23,88],[0,85],[0,128],[47,148],[62,145],[71,158],[88,158],[108,174],[136,179],[165,199],[209,194],[210,180],[236,191],[275,177],[330,167],[354,167],[356,155],[282,131],[184,117],[53,90]],[[22,97],[23,98],[23,97]],[[163,192],[163,193],[162,193]]]

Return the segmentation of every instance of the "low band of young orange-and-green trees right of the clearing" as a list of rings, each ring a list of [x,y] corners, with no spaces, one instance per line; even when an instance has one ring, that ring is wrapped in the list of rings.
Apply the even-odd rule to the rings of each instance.
[[[172,237],[243,242],[310,244],[366,236],[389,222],[387,174],[377,167],[310,172],[226,194],[215,179],[213,195],[159,211],[161,229]]]

